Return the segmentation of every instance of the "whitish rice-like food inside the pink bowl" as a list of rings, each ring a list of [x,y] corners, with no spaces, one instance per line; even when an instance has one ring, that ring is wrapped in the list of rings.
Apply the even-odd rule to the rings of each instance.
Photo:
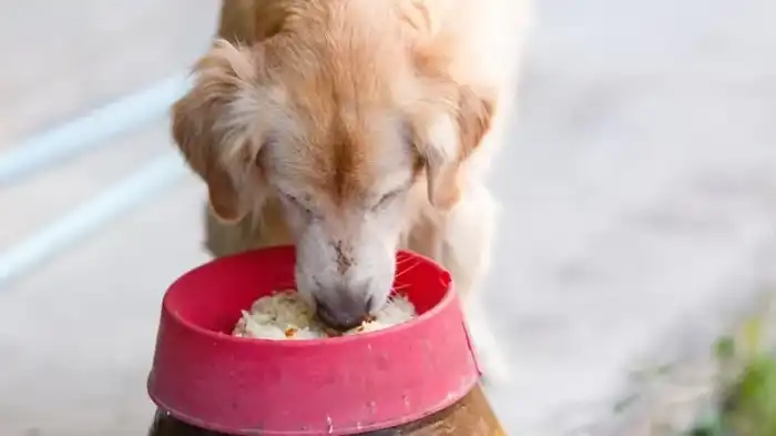
[[[415,305],[407,297],[396,295],[361,325],[343,334],[375,332],[416,316]],[[256,300],[251,311],[243,311],[232,334],[262,339],[317,339],[336,335],[316,318],[313,307],[293,290]]]

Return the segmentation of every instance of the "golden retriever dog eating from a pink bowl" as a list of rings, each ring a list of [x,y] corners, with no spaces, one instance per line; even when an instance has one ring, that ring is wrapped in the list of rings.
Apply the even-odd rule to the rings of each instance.
[[[294,243],[299,293],[341,328],[386,303],[398,249],[430,256],[504,376],[477,290],[527,1],[225,0],[173,108],[214,254]]]

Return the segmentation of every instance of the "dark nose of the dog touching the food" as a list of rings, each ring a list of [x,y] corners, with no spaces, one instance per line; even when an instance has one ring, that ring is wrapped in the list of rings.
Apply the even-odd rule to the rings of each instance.
[[[326,325],[338,331],[358,326],[369,315],[371,297],[347,290],[328,293],[330,297],[316,297],[316,314]]]

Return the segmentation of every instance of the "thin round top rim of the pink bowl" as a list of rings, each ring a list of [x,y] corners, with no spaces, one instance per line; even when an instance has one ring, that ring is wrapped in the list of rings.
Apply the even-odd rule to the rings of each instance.
[[[211,261],[208,261],[200,266],[196,266],[193,270],[187,271],[186,273],[184,273],[183,275],[177,277],[167,287],[167,290],[172,291],[173,288],[175,288],[180,284],[180,282],[186,280],[190,275],[192,275],[192,274],[194,274],[203,268],[211,267],[211,266],[213,266],[214,263],[227,262],[233,257],[241,257],[241,256],[244,256],[246,254],[252,254],[252,253],[256,253],[256,252],[262,252],[262,253],[265,253],[267,255],[272,255],[272,253],[269,253],[269,252],[287,252],[289,250],[295,251],[296,249],[294,245],[278,245],[278,246],[273,246],[273,247],[248,250],[245,252],[217,257],[217,258],[211,260]],[[406,321],[404,323],[396,324],[396,325],[392,325],[392,326],[389,326],[389,327],[386,327],[382,329],[378,329],[378,331],[365,332],[365,333],[360,333],[357,335],[347,335],[347,336],[344,335],[344,336],[335,336],[335,337],[326,337],[326,338],[269,339],[269,338],[261,338],[261,337],[241,337],[241,336],[234,336],[234,335],[227,334],[227,333],[207,329],[207,328],[202,327],[195,323],[186,321],[183,316],[181,316],[181,314],[177,311],[170,307],[170,304],[171,304],[170,300],[172,298],[171,297],[172,292],[167,292],[164,295],[164,298],[162,300],[162,310],[164,311],[166,316],[170,316],[170,318],[172,321],[174,321],[176,324],[178,324],[187,329],[194,331],[197,334],[204,335],[204,336],[213,338],[215,341],[234,343],[234,344],[256,344],[256,345],[272,345],[272,346],[283,346],[283,347],[309,347],[309,346],[321,346],[321,345],[347,344],[350,342],[363,341],[365,337],[377,337],[378,335],[386,335],[386,334],[395,335],[395,334],[399,334],[399,333],[406,333],[405,331],[412,328],[416,325],[423,324],[428,320],[436,316],[439,312],[447,310],[448,306],[451,304],[455,304],[459,300],[459,297],[458,297],[458,294],[456,293],[455,282],[452,281],[452,276],[450,275],[450,273],[447,270],[439,267],[433,260],[431,260],[427,256],[423,256],[421,254],[406,251],[406,250],[398,250],[397,256],[399,254],[408,255],[410,257],[420,258],[422,262],[428,262],[431,266],[433,266],[435,268],[438,268],[439,272],[445,277],[443,280],[446,280],[448,282],[448,284],[446,286],[447,290],[446,290],[442,298],[439,301],[439,303],[435,304],[433,307],[431,307],[430,310],[423,312],[422,314],[420,314],[420,315],[418,315],[409,321]],[[293,286],[295,287],[294,292],[298,292],[296,290],[296,283],[294,283]],[[394,292],[391,292],[391,294]]]

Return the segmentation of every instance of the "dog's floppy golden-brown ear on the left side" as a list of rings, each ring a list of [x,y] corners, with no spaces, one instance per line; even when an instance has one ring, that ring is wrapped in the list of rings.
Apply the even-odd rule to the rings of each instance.
[[[217,41],[197,62],[192,89],[172,110],[173,139],[207,183],[213,211],[227,222],[243,219],[261,197],[257,55]]]

